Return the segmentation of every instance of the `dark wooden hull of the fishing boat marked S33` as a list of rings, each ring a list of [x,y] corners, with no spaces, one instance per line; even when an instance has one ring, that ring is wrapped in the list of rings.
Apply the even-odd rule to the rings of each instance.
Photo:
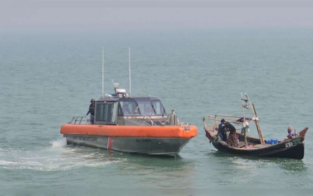
[[[304,130],[305,132],[307,129]],[[290,140],[281,141],[274,145],[262,145],[260,141],[256,138],[247,137],[249,140],[256,142],[258,144],[255,147],[249,148],[237,148],[231,147],[223,141],[216,141],[214,135],[211,135],[208,130],[205,130],[207,138],[212,142],[213,146],[219,151],[245,155],[245,156],[261,156],[261,157],[277,157],[277,158],[292,158],[292,159],[303,159],[304,157],[304,137],[301,134],[293,137]],[[305,133],[304,133],[305,134]],[[241,134],[237,135],[242,137]],[[304,135],[303,135],[304,136]],[[259,146],[259,147],[258,147]]]

